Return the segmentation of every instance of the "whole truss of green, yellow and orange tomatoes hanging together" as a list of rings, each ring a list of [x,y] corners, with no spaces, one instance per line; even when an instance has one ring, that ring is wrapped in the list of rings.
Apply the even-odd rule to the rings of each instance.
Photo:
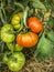
[[[3,55],[3,62],[8,64],[11,71],[18,71],[22,69],[25,63],[25,56],[22,52],[20,52],[23,48],[34,47],[39,41],[39,35],[42,31],[42,21],[35,17],[30,17],[26,20],[28,27],[31,30],[28,33],[19,33],[14,34],[14,30],[19,30],[21,28],[21,18],[22,12],[17,13],[11,19],[11,24],[4,24],[1,28],[1,39],[6,42],[9,50],[13,51],[13,54],[9,55],[6,52]],[[13,43],[15,41],[15,43]]]

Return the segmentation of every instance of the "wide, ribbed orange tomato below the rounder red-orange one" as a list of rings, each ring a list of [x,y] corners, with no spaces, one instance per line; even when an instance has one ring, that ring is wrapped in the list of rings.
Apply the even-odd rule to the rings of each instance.
[[[21,47],[24,48],[31,48],[33,45],[35,45],[39,41],[39,37],[37,34],[33,33],[33,32],[28,32],[24,34],[18,34],[17,37],[17,43]]]

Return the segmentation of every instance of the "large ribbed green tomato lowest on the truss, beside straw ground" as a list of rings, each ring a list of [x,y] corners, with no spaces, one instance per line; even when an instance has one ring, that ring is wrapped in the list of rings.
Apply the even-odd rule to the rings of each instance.
[[[19,71],[25,63],[25,58],[22,52],[14,52],[10,55],[8,66],[11,71]]]

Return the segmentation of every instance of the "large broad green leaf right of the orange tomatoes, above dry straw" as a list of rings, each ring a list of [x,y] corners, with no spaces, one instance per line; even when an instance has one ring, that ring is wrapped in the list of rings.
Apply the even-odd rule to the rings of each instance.
[[[37,43],[37,49],[34,52],[34,56],[37,56],[39,60],[44,60],[45,58],[54,56],[54,44],[47,38],[45,33],[42,34]]]

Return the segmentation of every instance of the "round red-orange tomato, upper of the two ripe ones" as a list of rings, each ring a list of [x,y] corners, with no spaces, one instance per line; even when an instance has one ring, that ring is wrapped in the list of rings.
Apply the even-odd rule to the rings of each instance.
[[[43,27],[41,20],[35,17],[31,17],[28,19],[28,25],[34,33],[41,32]]]

